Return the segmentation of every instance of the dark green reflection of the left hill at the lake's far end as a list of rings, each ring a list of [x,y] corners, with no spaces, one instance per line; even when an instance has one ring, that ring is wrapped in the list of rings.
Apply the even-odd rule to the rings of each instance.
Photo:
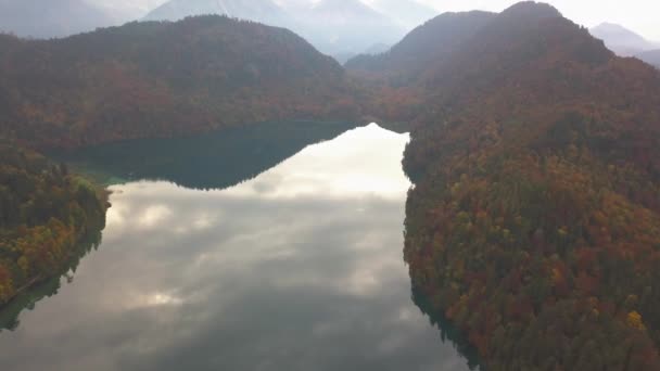
[[[182,138],[122,141],[52,155],[106,184],[167,180],[190,189],[225,189],[355,126],[262,123]]]

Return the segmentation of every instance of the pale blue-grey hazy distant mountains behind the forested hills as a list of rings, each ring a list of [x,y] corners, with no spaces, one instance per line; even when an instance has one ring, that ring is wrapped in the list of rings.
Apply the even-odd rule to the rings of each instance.
[[[145,2],[148,4],[157,1]],[[191,15],[225,14],[289,28],[341,63],[360,54],[378,54],[409,30],[437,15],[415,0],[169,0],[139,15],[114,3],[90,0],[0,0],[0,31],[20,37],[53,38],[116,26],[130,21],[178,21]],[[611,23],[591,29],[622,56],[659,65],[660,42]]]

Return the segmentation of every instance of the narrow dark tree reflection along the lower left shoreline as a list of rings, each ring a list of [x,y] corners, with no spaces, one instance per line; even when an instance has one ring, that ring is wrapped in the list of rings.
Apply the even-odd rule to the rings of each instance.
[[[62,269],[62,273],[59,277],[48,279],[18,294],[0,310],[0,332],[17,329],[21,324],[21,321],[18,320],[21,312],[25,309],[33,310],[41,299],[56,295],[62,286],[62,279],[66,279],[67,283],[73,281],[74,273],[76,272],[76,268],[80,264],[80,260],[101,245],[103,228],[104,225],[99,225],[96,230],[90,231],[87,234],[78,244],[77,251],[73,253],[72,259],[66,267]]]

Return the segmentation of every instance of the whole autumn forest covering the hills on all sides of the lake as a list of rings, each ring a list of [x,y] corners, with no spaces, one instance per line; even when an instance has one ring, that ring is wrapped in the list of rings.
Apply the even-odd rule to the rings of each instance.
[[[0,49],[0,306],[105,225],[106,191],[40,153],[376,120],[410,132],[415,295],[484,369],[660,370],[660,72],[549,5],[443,14],[344,67],[226,16]]]

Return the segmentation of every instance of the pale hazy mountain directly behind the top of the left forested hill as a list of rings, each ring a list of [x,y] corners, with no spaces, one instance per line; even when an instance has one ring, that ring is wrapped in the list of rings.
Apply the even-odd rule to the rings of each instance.
[[[187,16],[210,14],[270,26],[290,26],[289,16],[271,0],[170,0],[149,12],[143,21],[180,21]]]

